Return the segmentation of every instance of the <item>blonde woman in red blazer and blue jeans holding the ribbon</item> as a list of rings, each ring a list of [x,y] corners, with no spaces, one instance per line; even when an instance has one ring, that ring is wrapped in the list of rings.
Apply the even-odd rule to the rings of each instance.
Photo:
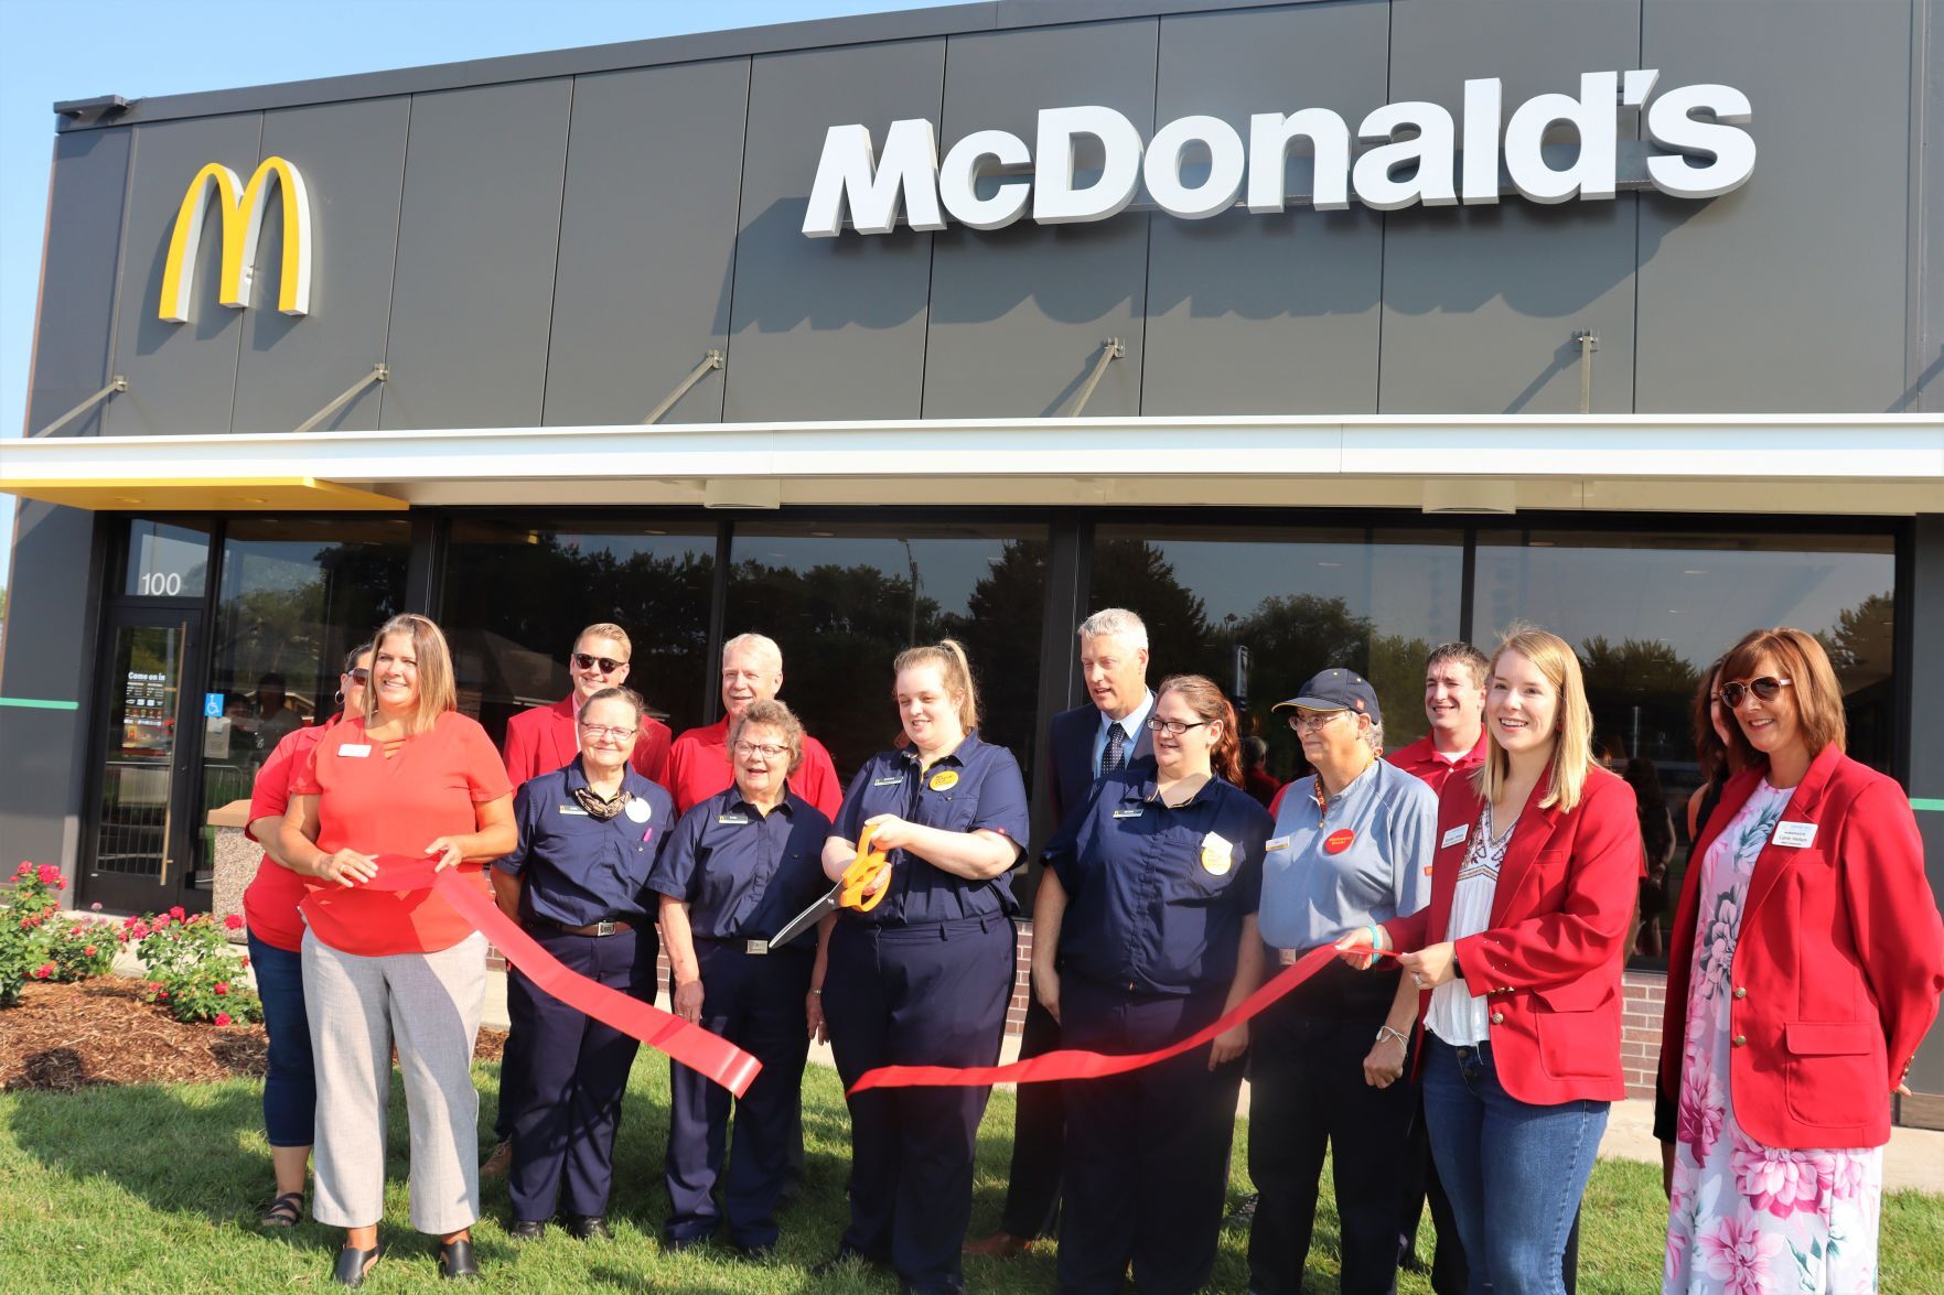
[[[1565,640],[1526,628],[1499,644],[1485,735],[1485,764],[1439,797],[1431,904],[1339,945],[1415,951],[1398,962],[1429,990],[1425,1124],[1472,1291],[1557,1293],[1608,1104],[1625,1097],[1641,824],[1633,788],[1592,758]]]

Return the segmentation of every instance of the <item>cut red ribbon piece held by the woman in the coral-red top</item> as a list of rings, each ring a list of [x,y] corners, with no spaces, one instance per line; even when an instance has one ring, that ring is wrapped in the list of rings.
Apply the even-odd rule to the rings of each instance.
[[[748,1091],[762,1062],[743,1052],[727,1038],[690,1025],[653,1003],[628,998],[620,990],[589,980],[560,964],[533,935],[519,929],[476,883],[453,869],[432,871],[432,859],[379,856],[377,877],[364,883],[367,891],[432,891],[451,904],[461,918],[494,943],[505,961],[527,974],[552,998],[585,1011],[603,1025],[634,1034],[649,1048],[659,1048],[682,1066],[713,1079],[737,1097]]]

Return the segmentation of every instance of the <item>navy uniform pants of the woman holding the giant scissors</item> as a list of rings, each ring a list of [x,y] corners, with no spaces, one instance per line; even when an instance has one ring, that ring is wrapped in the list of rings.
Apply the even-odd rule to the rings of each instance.
[[[1013,992],[1013,924],[838,922],[824,1019],[850,1087],[877,1066],[993,1066]],[[873,1089],[850,1099],[851,1221],[844,1250],[888,1262],[914,1291],[964,1287],[972,1153],[988,1089]]]

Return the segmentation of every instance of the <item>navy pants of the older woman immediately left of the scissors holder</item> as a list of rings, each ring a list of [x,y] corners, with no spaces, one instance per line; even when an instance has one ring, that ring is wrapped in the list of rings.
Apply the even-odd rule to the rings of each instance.
[[[737,1244],[772,1246],[776,1202],[789,1174],[789,1124],[811,1048],[803,999],[815,953],[783,949],[750,957],[741,945],[698,939],[696,962],[702,1029],[754,1056],[762,1073],[735,1099],[735,1153],[723,1174],[731,1093],[678,1062],[669,1064],[669,1237],[708,1237],[727,1221]]]

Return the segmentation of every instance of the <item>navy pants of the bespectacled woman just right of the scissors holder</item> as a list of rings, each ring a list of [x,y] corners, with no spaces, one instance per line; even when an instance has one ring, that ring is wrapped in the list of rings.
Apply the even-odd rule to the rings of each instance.
[[[1067,1048],[1151,1052],[1221,1015],[1227,988],[1176,998],[1059,980]],[[1065,1085],[1065,1200],[1059,1289],[1199,1291],[1215,1266],[1229,1200],[1229,1143],[1242,1062],[1209,1069],[1209,1048],[1106,1079]]]

